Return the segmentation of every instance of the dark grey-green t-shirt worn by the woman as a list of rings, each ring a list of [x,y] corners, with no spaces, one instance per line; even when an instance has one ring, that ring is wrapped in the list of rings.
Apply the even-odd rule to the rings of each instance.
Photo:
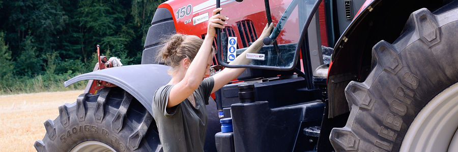
[[[192,93],[195,107],[185,99],[180,104],[167,108],[168,95],[173,86],[162,86],[154,93],[153,117],[162,148],[164,151],[204,151],[208,125],[205,105],[214,86],[213,77],[204,79]]]

